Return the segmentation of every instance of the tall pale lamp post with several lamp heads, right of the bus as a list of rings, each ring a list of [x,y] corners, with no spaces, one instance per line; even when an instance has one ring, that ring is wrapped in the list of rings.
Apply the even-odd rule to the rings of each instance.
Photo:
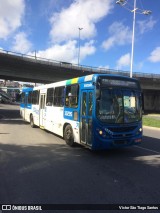
[[[135,37],[135,21],[136,21],[136,13],[143,14],[143,15],[150,15],[152,12],[150,10],[141,10],[136,7],[136,0],[134,0],[134,8],[130,10],[127,8],[127,1],[126,0],[118,0],[116,4],[121,5],[122,7],[126,8],[130,12],[133,12],[133,29],[132,29],[132,49],[131,49],[131,66],[130,66],[130,78],[133,76],[133,58],[134,58],[134,37]]]

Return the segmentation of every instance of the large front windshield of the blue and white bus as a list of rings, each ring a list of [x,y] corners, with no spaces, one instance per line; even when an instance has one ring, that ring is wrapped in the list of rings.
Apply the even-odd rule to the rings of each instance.
[[[96,115],[105,123],[133,123],[141,120],[141,105],[141,94],[138,91],[101,88],[96,101]]]

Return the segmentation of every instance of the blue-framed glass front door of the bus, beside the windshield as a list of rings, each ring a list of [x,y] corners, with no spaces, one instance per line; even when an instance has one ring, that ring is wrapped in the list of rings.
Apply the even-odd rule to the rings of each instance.
[[[92,111],[93,111],[93,91],[82,91],[81,99],[81,129],[80,141],[83,144],[92,145]]]

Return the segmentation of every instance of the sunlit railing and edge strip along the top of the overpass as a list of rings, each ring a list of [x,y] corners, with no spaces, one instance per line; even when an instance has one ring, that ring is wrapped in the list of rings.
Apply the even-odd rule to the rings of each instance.
[[[86,66],[86,65],[78,65],[78,64],[72,64],[69,62],[65,62],[65,61],[57,61],[57,60],[53,60],[53,59],[37,57],[36,52],[34,55],[27,55],[27,54],[23,54],[23,53],[17,53],[17,52],[0,49],[0,53],[22,57],[25,60],[32,61],[35,63],[54,65],[54,66],[59,66],[59,67],[66,67],[66,68],[76,69],[76,70],[81,70],[81,71],[88,71],[88,72],[95,72],[95,73],[107,73],[107,74],[118,74],[118,75],[124,75],[124,76],[129,76],[129,73],[130,73],[129,71],[124,71],[124,70],[115,70],[115,69],[92,67],[92,66]],[[133,72],[133,76],[137,77],[137,78],[158,78],[158,79],[160,79],[160,74],[153,74],[153,73]]]

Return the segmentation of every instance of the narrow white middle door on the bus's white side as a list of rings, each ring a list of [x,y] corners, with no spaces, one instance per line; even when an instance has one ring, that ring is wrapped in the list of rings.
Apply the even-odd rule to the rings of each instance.
[[[46,95],[40,94],[40,118],[39,118],[39,125],[40,127],[44,127],[44,121],[45,121],[45,100]]]

